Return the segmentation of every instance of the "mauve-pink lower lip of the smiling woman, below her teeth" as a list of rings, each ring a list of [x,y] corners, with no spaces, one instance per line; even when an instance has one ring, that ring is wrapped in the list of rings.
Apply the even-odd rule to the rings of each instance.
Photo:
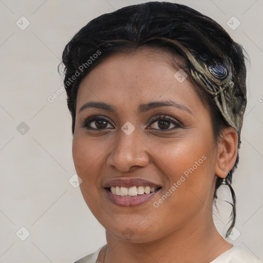
[[[137,206],[151,200],[161,189],[149,194],[136,196],[120,196],[112,194],[109,189],[105,189],[109,200],[119,206]]]

